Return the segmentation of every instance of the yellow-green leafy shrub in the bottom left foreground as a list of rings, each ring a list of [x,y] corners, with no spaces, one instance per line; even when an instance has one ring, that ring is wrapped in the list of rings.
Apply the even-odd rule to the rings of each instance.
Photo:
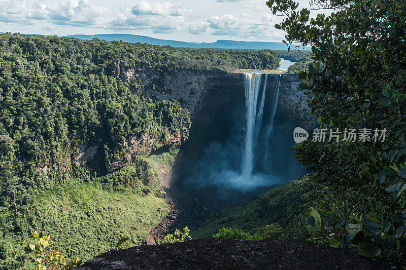
[[[77,257],[75,260],[65,259],[58,250],[49,250],[49,240],[51,236],[39,237],[38,233],[33,234],[32,244],[28,245],[25,254],[33,253],[36,255],[35,262],[38,270],[67,270],[82,264],[82,259]]]

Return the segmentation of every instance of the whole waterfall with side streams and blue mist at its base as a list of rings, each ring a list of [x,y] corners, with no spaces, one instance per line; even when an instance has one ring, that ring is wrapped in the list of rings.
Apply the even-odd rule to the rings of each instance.
[[[267,89],[269,76],[272,76],[275,88]],[[244,118],[245,113],[245,119],[236,119],[234,136],[230,136],[225,142],[213,142],[206,149],[204,162],[195,170],[204,173],[193,178],[194,186],[210,183],[218,186],[216,190],[221,192],[221,196],[229,196],[226,192],[229,189],[238,189],[245,193],[285,181],[285,178],[277,174],[278,171],[274,172],[272,169],[274,161],[280,156],[284,158],[284,153],[280,156],[278,153],[275,157],[269,155],[272,159],[266,159],[266,150],[279,146],[277,140],[284,141],[281,134],[276,134],[278,136],[275,137],[275,142],[269,139],[273,136],[271,131],[280,81],[279,74],[244,73],[245,110],[242,111],[240,105],[236,106],[239,111],[236,111],[235,117]],[[265,145],[267,141],[271,146]],[[236,157],[241,157],[241,160],[236,160]]]

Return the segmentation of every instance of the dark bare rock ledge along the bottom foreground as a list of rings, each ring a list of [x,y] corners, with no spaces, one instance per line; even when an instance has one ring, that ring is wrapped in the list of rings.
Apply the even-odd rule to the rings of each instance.
[[[350,250],[300,240],[213,238],[112,250],[87,261],[92,269],[388,269]]]

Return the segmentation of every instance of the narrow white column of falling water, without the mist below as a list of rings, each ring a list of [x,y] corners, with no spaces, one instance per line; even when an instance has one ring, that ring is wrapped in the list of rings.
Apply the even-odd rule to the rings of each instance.
[[[266,75],[265,75],[266,76]],[[266,78],[266,77],[265,77]],[[254,164],[254,140],[257,140],[262,124],[263,106],[265,103],[266,80],[262,91],[261,103],[258,107],[258,96],[261,86],[261,73],[244,73],[246,134],[243,152],[242,177],[251,178]]]

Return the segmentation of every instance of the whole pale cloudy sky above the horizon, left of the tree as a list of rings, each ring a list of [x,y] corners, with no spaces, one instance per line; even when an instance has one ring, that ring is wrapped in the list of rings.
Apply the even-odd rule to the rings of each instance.
[[[185,42],[281,42],[265,0],[0,0],[0,32],[127,33]],[[299,0],[308,6],[309,0]]]

